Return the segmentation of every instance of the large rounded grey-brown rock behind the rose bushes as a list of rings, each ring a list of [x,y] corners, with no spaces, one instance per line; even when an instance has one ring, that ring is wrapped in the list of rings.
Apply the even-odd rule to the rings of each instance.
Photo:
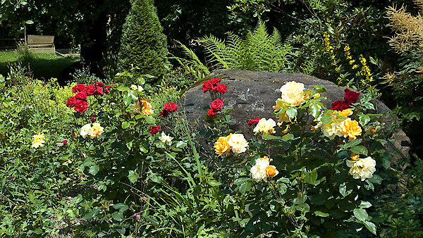
[[[320,80],[317,77],[300,73],[268,73],[247,70],[215,70],[204,80],[211,77],[221,78],[222,84],[228,86],[228,91],[223,95],[224,110],[231,108],[232,123],[231,130],[239,131],[251,136],[252,129],[248,126],[251,118],[274,118],[273,108],[276,99],[281,97],[279,89],[285,82],[302,82],[306,86],[323,85],[326,88],[326,100],[322,101],[326,108],[331,107],[333,101],[343,100],[345,87],[338,87],[333,82]],[[204,82],[204,80],[202,82]],[[185,92],[181,104],[185,110],[185,115],[191,125],[204,126],[204,115],[212,101],[209,93],[202,92],[202,82]],[[208,108],[207,108],[208,109]],[[376,113],[385,113],[389,108],[378,102]],[[275,119],[275,118],[274,118]],[[276,120],[276,119],[275,119]],[[400,131],[394,134],[393,139],[397,139],[397,144],[407,156],[410,147],[410,139]]]

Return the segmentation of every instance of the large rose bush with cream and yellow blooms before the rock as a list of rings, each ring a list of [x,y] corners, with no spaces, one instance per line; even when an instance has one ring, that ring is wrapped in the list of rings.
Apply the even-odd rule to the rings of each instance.
[[[372,206],[368,196],[381,184],[378,173],[389,167],[390,156],[382,149],[383,136],[367,130],[383,126],[383,117],[367,113],[374,109],[369,93],[338,111],[324,106],[325,93],[320,85],[286,82],[273,108],[277,125],[271,118],[257,121],[257,139],[249,142],[251,167],[245,169],[250,178],[235,180],[257,214],[249,223],[287,220],[291,230],[286,234],[326,237],[336,236],[334,221],[345,220],[336,229],[365,227],[376,234],[366,211]],[[226,141],[217,140],[216,154],[229,151]]]

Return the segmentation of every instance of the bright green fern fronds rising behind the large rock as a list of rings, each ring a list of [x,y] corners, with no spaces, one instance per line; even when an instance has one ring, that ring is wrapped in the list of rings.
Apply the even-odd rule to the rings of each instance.
[[[225,40],[214,36],[198,40],[206,50],[209,63],[215,68],[287,72],[290,70],[292,47],[283,44],[280,33],[274,29],[272,35],[260,20],[254,32],[248,32],[243,40],[228,33]]]

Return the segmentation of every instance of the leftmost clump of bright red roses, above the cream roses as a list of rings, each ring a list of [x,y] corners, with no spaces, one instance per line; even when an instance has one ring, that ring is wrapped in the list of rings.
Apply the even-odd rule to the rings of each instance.
[[[72,88],[72,92],[75,96],[71,96],[68,99],[66,106],[75,108],[77,113],[82,114],[88,109],[87,96],[108,94],[112,86],[113,83],[104,87],[104,83],[102,82],[95,82],[87,86],[85,86],[85,84],[76,84],[75,87]]]

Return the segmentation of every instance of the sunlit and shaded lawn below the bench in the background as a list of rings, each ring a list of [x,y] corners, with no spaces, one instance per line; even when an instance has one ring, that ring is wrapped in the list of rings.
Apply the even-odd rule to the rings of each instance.
[[[33,54],[29,61],[23,61],[15,51],[0,51],[0,74],[9,72],[9,65],[22,62],[23,67],[30,67],[37,79],[57,77],[63,70],[78,62],[79,58],[62,57],[54,54]]]

